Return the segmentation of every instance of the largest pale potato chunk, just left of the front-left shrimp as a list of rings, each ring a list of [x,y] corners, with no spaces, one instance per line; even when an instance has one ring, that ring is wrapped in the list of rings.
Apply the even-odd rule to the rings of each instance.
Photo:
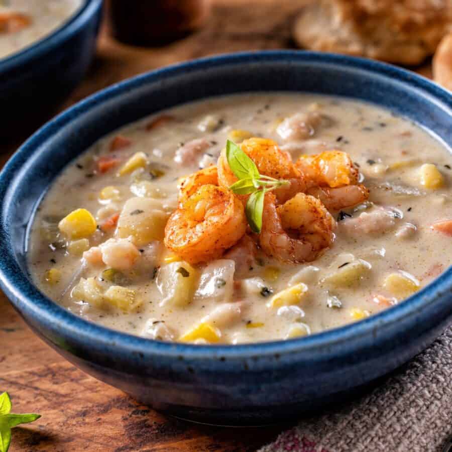
[[[146,245],[153,240],[163,240],[168,213],[162,204],[151,198],[130,198],[124,204],[118,220],[117,236],[132,236],[135,245]]]

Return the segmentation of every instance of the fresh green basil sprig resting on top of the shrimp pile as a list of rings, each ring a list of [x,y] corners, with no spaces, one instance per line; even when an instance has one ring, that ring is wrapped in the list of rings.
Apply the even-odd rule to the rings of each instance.
[[[226,158],[232,172],[239,179],[229,188],[239,195],[251,194],[245,207],[245,213],[252,231],[259,234],[262,229],[265,193],[288,185],[290,182],[259,174],[253,160],[231,140],[226,142]]]

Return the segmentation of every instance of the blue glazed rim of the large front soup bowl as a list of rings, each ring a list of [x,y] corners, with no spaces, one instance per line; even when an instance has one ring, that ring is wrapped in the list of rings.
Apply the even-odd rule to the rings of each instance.
[[[190,71],[211,68],[212,66],[268,63],[272,60],[309,61],[313,64],[329,64],[342,68],[362,69],[375,75],[389,76],[392,80],[396,79],[398,82],[408,84],[411,88],[423,91],[423,94],[427,94],[431,101],[439,102],[445,106],[447,110],[450,110],[449,114],[452,122],[452,96],[446,90],[413,72],[374,60],[329,53],[272,50],[223,54],[179,63],[132,77],[98,91],[72,105],[32,135],[10,158],[0,172],[0,194],[6,194],[0,210],[0,233],[5,232],[4,221],[6,213],[9,209],[14,208],[12,203],[8,202],[8,189],[18,182],[17,179],[21,175],[21,171],[18,171],[18,168],[36,153],[43,143],[68,126],[74,118],[89,111],[91,107],[102,104],[112,98],[117,98],[132,89],[139,88],[143,84],[157,82],[165,77],[178,76]],[[418,315],[427,306],[434,305],[438,301],[440,294],[452,291],[452,267],[449,267],[439,277],[403,303],[385,309],[359,322],[328,329],[310,336],[294,338],[288,341],[278,340],[239,345],[166,343],[90,322],[51,301],[29,281],[22,271],[17,271],[18,265],[15,262],[11,247],[8,247],[11,239],[9,236],[4,237],[7,237],[7,239],[0,241],[0,286],[10,299],[13,298],[13,305],[20,304],[20,307],[18,307],[20,311],[25,311],[38,323],[45,323],[62,336],[69,337],[76,344],[84,346],[89,344],[91,349],[97,351],[105,350],[105,348],[111,350],[111,347],[114,346],[113,353],[121,356],[139,353],[145,357],[160,355],[174,358],[183,355],[194,360],[209,360],[212,356],[222,356],[228,359],[240,360],[256,355],[282,356],[304,353],[306,356],[311,356],[311,352],[318,353],[320,351],[327,353],[329,356],[338,356],[344,353],[342,349],[344,344],[348,344],[349,348],[358,347],[359,338],[372,336],[377,330],[386,329],[388,331],[392,325],[402,319]],[[20,300],[20,303],[17,300]]]

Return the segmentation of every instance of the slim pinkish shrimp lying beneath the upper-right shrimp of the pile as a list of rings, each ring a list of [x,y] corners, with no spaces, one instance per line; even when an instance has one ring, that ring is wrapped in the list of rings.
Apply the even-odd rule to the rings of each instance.
[[[328,210],[353,207],[369,198],[369,189],[364,185],[345,185],[335,188],[312,187],[306,193],[320,199]]]

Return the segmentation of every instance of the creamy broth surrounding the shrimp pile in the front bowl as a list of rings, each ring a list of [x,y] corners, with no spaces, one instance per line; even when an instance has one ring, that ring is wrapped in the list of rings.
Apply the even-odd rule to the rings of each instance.
[[[281,127],[284,119],[300,113],[305,115],[303,127],[309,126],[312,113],[321,117],[302,139]],[[129,221],[126,213],[137,220],[143,215],[138,207],[126,212],[130,198],[152,200],[166,221],[178,204],[178,178],[216,164],[228,138],[239,143],[248,136],[275,140],[293,161],[303,154],[341,150],[359,169],[370,197],[331,210],[337,220],[335,240],[316,260],[282,263],[258,250],[250,261],[242,248],[207,267],[189,266],[165,248],[162,237],[137,236],[132,242],[140,255],[133,257],[131,268],[112,269],[82,259],[83,251],[121,236],[121,218]],[[145,154],[146,166],[118,175],[137,153]],[[108,156],[100,160],[106,164],[102,170],[112,165],[103,173],[102,156]],[[363,102],[259,93],[186,104],[102,138],[63,171],[37,212],[30,269],[38,287],[71,312],[145,337],[238,344],[312,334],[403,302],[447,269],[452,227],[431,226],[452,218],[451,167],[443,144],[406,119]],[[92,213],[97,230],[68,240],[58,222],[78,208]],[[118,212],[118,230],[105,226]],[[154,221],[155,229],[161,227],[159,221]],[[130,231],[137,232],[135,223]],[[184,278],[185,272],[190,276]],[[187,286],[193,272],[194,285]],[[80,287],[81,278],[94,278],[94,291],[89,284]],[[105,301],[102,294],[111,286],[133,293],[126,308],[112,307],[114,296]],[[288,287],[299,291],[275,297]]]

